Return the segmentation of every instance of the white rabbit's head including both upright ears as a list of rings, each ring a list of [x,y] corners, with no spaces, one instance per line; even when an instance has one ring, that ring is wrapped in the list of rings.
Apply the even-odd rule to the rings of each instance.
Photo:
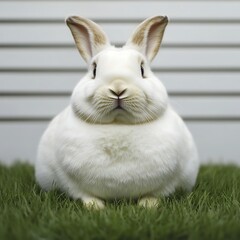
[[[88,73],[75,87],[74,113],[89,123],[140,124],[161,117],[168,106],[165,87],[152,73],[167,17],[142,22],[122,48],[111,46],[94,22],[72,16],[67,20]]]

